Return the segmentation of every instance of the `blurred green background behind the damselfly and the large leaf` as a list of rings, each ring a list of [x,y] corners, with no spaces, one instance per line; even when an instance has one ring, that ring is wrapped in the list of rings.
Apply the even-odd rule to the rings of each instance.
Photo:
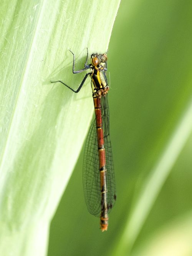
[[[101,233],[84,202],[83,149],[51,224],[49,256],[192,255],[191,13],[190,0],[121,1],[108,52],[117,202]],[[146,190],[149,207],[136,215]]]

